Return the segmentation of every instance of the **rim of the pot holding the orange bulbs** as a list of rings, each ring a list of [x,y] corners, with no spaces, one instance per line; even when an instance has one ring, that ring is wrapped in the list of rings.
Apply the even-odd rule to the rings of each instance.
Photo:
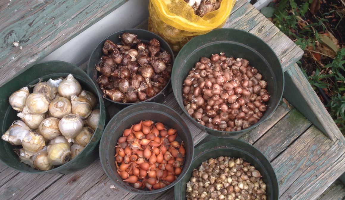
[[[140,103],[140,104],[148,104],[148,106],[149,106],[150,104],[154,104],[154,105],[155,105],[155,104],[158,104],[158,105],[160,105],[160,106],[164,106],[164,107],[170,109],[171,111],[175,112],[176,114],[178,114],[178,116],[181,117],[181,115],[180,115],[178,112],[176,112],[174,109],[172,109],[172,108],[170,108],[169,106],[166,106],[166,105],[164,105],[164,104],[161,104],[161,103],[156,103],[156,102],[142,102],[142,103]],[[122,109],[120,112],[126,111],[126,109],[131,109],[132,106],[134,106],[134,105],[128,106],[128,107]],[[152,110],[152,111],[156,111],[156,110]],[[118,112],[118,113],[120,113],[120,112]],[[136,113],[132,113],[132,114],[128,115],[128,117],[133,116],[133,115],[136,115],[136,114],[138,114],[138,113],[144,113],[144,112],[145,112],[145,111],[139,111],[139,112],[136,112]],[[158,113],[158,112],[159,112],[159,113],[163,113],[163,114],[165,114],[165,115],[167,115],[167,116],[170,116],[169,114],[167,114],[167,113],[165,113],[165,112],[157,111],[157,113]],[[112,118],[110,119],[110,121],[111,121],[112,119],[116,118],[117,115],[118,115],[118,113],[116,113],[115,116],[112,117]],[[128,117],[125,118],[125,119],[122,119],[120,122],[123,122],[124,120],[128,119]],[[170,116],[170,117],[171,117],[171,116]],[[171,117],[171,118],[172,118],[172,117]],[[182,118],[182,117],[181,117],[181,118]],[[173,119],[174,119],[174,118],[173,118]],[[183,119],[183,118],[182,118],[182,119]],[[111,126],[111,124],[108,123],[107,126],[104,128],[104,131],[107,130],[108,126]],[[187,127],[188,127],[188,125],[187,125]],[[188,129],[189,129],[189,128],[188,128]],[[189,131],[189,132],[190,132],[190,131]],[[191,133],[191,132],[190,132],[190,133]],[[101,137],[100,142],[99,142],[100,144],[105,143],[103,136],[104,136],[104,134],[102,134],[102,137]],[[190,158],[190,159],[191,159],[191,163],[193,162],[194,154],[195,154],[193,136],[192,136],[192,145],[193,145],[193,148],[191,148],[191,149],[192,149],[193,152],[192,152],[191,158]],[[103,171],[107,174],[107,176],[108,176],[108,178],[109,178],[109,177],[111,177],[111,176],[110,176],[110,174],[107,172],[107,170],[106,170],[106,168],[105,168],[105,164],[102,162],[102,157],[103,157],[103,156],[101,155],[101,151],[102,151],[102,149],[101,149],[101,145],[100,145],[100,147],[99,147],[99,159],[100,159],[100,161],[101,161],[100,163],[101,163],[101,166],[102,166],[102,168],[103,168]],[[106,161],[106,163],[109,162],[108,158],[105,158],[104,160]],[[186,167],[186,166],[185,166],[185,167]],[[187,166],[186,172],[189,170],[189,168],[190,168],[190,165]],[[113,170],[111,169],[111,171],[113,171]],[[185,176],[186,174],[183,174],[183,175]],[[180,178],[180,180],[181,180],[184,176],[179,176],[178,178]],[[178,179],[178,178],[177,178],[177,179]],[[109,179],[110,179],[110,178],[109,178]],[[177,179],[176,179],[176,180],[177,180]],[[116,183],[116,182],[113,181],[112,179],[110,179],[110,180],[111,180],[112,182]],[[176,181],[176,180],[175,180],[175,181]],[[179,180],[179,181],[180,181],[180,180]],[[116,180],[116,181],[120,182],[120,181],[122,181],[122,180]],[[175,181],[174,181],[174,182],[175,182]],[[159,192],[166,191],[167,189],[174,187],[179,181],[176,181],[175,183],[172,182],[172,183],[169,184],[168,186],[166,186],[166,187],[164,187],[164,188],[161,188],[161,189],[158,189],[158,190],[148,191],[148,192],[149,192],[148,194],[155,194],[155,193],[159,193]],[[123,181],[122,181],[122,182],[123,182]],[[174,184],[173,184],[173,183],[174,183]],[[117,183],[116,183],[116,184],[117,184]],[[122,189],[121,186],[118,186],[118,187]],[[127,191],[127,190],[126,190],[126,191]],[[145,190],[143,190],[143,191],[145,191]],[[143,195],[146,194],[146,193],[140,193],[140,192],[136,192],[136,191],[131,191],[131,193],[143,194]]]

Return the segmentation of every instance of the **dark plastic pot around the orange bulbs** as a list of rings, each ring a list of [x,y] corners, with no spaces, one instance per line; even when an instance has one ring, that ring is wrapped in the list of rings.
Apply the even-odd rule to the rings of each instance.
[[[155,122],[162,122],[165,126],[177,130],[178,139],[184,141],[186,148],[186,155],[184,157],[184,164],[181,174],[177,179],[168,186],[158,190],[140,190],[130,186],[127,182],[122,181],[121,177],[116,171],[115,166],[115,146],[117,140],[122,136],[122,132],[131,127],[131,124],[139,123],[140,120],[152,120]],[[106,172],[109,179],[120,188],[137,194],[153,194],[165,191],[174,186],[188,171],[191,161],[193,160],[194,144],[193,137],[188,129],[187,124],[181,116],[171,108],[154,102],[138,103],[129,106],[118,112],[108,123],[104,129],[103,136],[99,146],[99,157],[103,170]]]

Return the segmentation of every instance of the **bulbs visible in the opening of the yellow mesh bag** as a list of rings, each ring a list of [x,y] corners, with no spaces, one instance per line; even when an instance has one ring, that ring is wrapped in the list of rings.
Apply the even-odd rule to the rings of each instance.
[[[215,11],[220,7],[221,0],[185,0],[193,8],[194,13],[200,17]]]

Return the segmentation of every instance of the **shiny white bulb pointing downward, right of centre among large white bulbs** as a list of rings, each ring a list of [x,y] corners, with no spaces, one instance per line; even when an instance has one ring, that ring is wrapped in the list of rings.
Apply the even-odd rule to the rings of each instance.
[[[74,142],[74,139],[84,126],[83,120],[76,114],[69,114],[59,121],[59,130],[68,142]]]

